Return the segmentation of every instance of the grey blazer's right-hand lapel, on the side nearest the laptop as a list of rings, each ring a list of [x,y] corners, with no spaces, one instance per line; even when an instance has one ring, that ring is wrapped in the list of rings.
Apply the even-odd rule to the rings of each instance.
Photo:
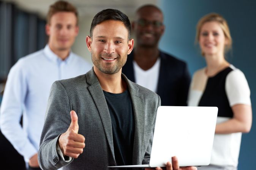
[[[123,74],[122,76],[126,79],[126,82],[128,84],[134,111],[135,133],[133,143],[133,164],[139,164],[141,162],[138,161],[141,160],[141,158],[143,158],[143,156],[141,156],[141,153],[143,152],[142,150],[144,148],[144,99],[143,94],[139,93],[139,89],[136,86],[134,86]]]

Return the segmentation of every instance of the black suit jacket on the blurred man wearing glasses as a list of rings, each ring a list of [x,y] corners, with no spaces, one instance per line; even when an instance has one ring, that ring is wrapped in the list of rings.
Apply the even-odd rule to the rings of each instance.
[[[186,106],[190,74],[186,63],[160,51],[160,72],[156,93],[161,98],[163,106]],[[128,55],[127,62],[122,68],[128,79],[136,82],[133,68],[134,53]]]

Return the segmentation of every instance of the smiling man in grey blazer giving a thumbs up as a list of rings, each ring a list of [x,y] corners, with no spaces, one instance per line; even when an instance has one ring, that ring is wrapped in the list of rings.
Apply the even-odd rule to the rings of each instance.
[[[95,15],[86,37],[92,70],[52,85],[38,154],[42,169],[149,164],[161,102],[157,94],[122,74],[133,49],[130,35],[130,21],[122,12],[105,9]],[[166,169],[179,169],[176,157]]]

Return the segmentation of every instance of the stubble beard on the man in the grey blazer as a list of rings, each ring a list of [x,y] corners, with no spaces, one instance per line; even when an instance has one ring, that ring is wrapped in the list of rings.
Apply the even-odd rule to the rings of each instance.
[[[103,54],[103,55],[99,55],[98,57],[95,56],[95,54],[93,53],[93,51],[91,52],[91,57],[92,57],[92,63],[96,66],[96,68],[98,68],[98,70],[100,70],[102,73],[105,74],[115,74],[118,73],[120,71],[120,69],[125,65],[126,60],[127,60],[127,56],[122,56],[120,57],[119,55],[114,56],[113,54]],[[113,63],[104,63],[104,65],[101,63],[101,58],[102,57],[115,57],[117,60],[116,64],[114,66]]]

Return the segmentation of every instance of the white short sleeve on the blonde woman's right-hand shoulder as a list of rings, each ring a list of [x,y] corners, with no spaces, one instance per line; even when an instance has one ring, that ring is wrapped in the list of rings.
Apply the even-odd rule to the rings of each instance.
[[[250,88],[239,69],[231,71],[226,77],[225,90],[231,107],[235,104],[251,105]]]

